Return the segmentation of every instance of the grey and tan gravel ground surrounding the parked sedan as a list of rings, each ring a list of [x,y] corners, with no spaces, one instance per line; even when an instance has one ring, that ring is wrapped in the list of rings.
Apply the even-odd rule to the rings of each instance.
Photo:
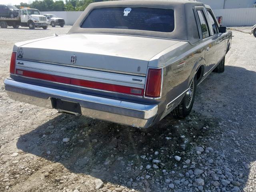
[[[256,191],[256,38],[233,31],[225,72],[200,84],[191,115],[144,133],[8,98],[13,44],[69,28],[0,29],[0,191]]]

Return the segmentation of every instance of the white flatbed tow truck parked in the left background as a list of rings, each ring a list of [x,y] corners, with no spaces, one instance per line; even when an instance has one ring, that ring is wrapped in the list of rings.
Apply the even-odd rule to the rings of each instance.
[[[44,15],[40,15],[38,9],[32,9],[28,7],[21,7],[19,15],[16,18],[4,18],[0,17],[0,27],[7,28],[12,26],[13,28],[29,27],[47,29],[50,22]]]

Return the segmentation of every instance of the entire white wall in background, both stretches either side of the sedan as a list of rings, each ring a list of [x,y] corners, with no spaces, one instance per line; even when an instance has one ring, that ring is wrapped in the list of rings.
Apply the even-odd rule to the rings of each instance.
[[[41,12],[41,14],[47,13],[64,18],[66,25],[73,25],[82,11]],[[256,8],[217,9],[214,10],[214,14],[223,17],[223,26],[253,26],[256,24]]]

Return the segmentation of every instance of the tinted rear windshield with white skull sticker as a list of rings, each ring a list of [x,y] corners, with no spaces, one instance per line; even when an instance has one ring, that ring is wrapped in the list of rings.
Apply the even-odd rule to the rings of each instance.
[[[172,32],[174,30],[174,10],[123,7],[99,8],[90,12],[81,28]]]

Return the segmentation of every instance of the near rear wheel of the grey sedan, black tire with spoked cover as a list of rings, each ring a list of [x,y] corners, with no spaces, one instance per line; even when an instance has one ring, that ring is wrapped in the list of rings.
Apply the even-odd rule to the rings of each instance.
[[[178,104],[178,106],[172,110],[172,115],[175,118],[185,118],[190,114],[196,96],[196,85],[197,76],[195,75],[192,82],[190,83],[190,90],[184,96],[180,104]]]

